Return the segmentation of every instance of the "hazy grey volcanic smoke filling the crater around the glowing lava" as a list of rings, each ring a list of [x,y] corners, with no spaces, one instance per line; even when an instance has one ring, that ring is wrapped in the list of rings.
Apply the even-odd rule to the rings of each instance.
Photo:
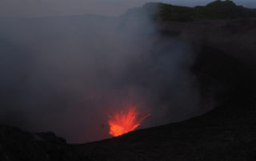
[[[82,143],[197,115],[190,44],[139,15],[2,19],[1,123]]]

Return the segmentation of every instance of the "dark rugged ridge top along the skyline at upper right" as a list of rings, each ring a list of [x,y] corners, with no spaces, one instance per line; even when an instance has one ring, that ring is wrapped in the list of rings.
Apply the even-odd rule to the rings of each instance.
[[[151,14],[156,21],[191,22],[199,20],[255,18],[256,10],[237,6],[232,1],[214,1],[206,6],[173,6],[158,2],[149,2],[142,7],[128,10],[123,16]]]

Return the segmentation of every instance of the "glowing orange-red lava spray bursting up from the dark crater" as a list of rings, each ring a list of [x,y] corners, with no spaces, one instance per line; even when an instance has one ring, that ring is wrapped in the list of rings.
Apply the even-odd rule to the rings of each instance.
[[[139,117],[138,114],[139,113],[136,112],[135,106],[134,108],[130,108],[127,113],[121,112],[115,114],[114,117],[110,116],[110,135],[118,136],[132,132],[135,128],[138,128],[142,120],[150,116],[150,114],[148,114],[146,116]]]

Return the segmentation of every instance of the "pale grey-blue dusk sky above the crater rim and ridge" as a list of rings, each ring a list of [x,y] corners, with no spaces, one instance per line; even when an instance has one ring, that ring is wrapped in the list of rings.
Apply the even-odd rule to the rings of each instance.
[[[1,0],[1,17],[38,17],[71,14],[118,15],[146,2],[167,2],[174,5],[205,5],[213,0]],[[254,0],[234,0],[239,5],[255,7]]]

